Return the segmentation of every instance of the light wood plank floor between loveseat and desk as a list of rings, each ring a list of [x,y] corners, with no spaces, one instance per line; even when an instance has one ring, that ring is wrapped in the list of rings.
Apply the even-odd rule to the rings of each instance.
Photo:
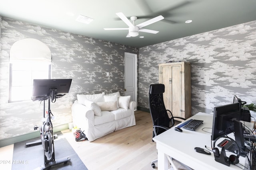
[[[157,150],[156,143],[152,142],[150,113],[135,111],[135,117],[135,126],[115,131],[93,142],[76,142],[69,130],[62,133],[89,170],[154,170],[151,161],[157,159]],[[13,145],[0,148],[0,153],[1,160],[12,160]],[[0,164],[0,169],[11,167]],[[180,166],[179,170],[185,168]]]

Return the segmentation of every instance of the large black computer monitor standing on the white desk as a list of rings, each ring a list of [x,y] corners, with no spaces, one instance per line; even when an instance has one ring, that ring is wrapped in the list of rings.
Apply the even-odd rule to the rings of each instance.
[[[227,104],[224,106],[214,107],[212,122],[212,141],[224,135],[234,132],[234,121],[240,120],[241,105],[240,103]]]

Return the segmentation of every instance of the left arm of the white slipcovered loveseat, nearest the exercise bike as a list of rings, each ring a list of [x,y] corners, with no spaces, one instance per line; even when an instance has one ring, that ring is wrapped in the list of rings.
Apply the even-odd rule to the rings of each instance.
[[[73,118],[73,123],[75,126],[80,127],[82,124],[87,125],[88,127],[94,126],[94,111],[88,107],[79,104],[76,100],[71,107],[71,114]]]

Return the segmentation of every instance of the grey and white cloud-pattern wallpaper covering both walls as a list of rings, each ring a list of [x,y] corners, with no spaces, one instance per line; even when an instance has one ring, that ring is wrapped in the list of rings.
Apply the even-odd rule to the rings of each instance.
[[[34,132],[34,125],[42,123],[43,103],[8,103],[10,47],[25,38],[50,48],[52,78],[73,79],[70,93],[51,104],[54,126],[72,122],[76,94],[124,94],[124,52],[138,55],[140,108],[148,109],[149,85],[158,83],[158,64],[167,61],[191,63],[193,115],[232,103],[234,95],[256,102],[256,21],[140,49],[22,21],[0,21],[0,140]]]

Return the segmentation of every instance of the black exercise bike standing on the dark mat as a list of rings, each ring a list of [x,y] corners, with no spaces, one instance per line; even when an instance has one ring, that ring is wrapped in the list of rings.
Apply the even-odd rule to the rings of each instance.
[[[53,80],[53,79],[46,79],[45,83],[47,84],[47,82],[49,82],[51,80]],[[71,84],[72,79],[54,79],[54,81],[56,81],[56,80],[70,80],[70,84]],[[36,80],[36,82],[37,82],[37,80]],[[39,82],[41,82],[41,80],[39,80]],[[56,82],[58,82],[58,81],[56,81]],[[54,83],[56,83],[56,82],[54,82]],[[35,80],[34,80],[34,84],[37,84],[37,83],[35,83]],[[70,88],[70,84],[68,87],[68,91]],[[41,84],[41,86],[42,86],[42,84]],[[44,101],[43,125],[40,127],[38,127],[38,126],[34,127],[34,130],[39,128],[41,139],[40,139],[40,141],[26,143],[26,147],[42,143],[42,147],[44,149],[44,164],[41,165],[39,168],[37,168],[40,170],[50,168],[51,166],[54,166],[57,164],[61,164],[61,163],[66,164],[67,162],[70,162],[70,157],[68,157],[68,156],[64,157],[64,158],[60,158],[60,159],[55,159],[54,138],[56,136],[54,136],[54,134],[53,134],[53,126],[52,126],[52,121],[51,121],[53,114],[52,114],[52,111],[50,110],[50,103],[51,102],[54,103],[57,98],[63,97],[65,94],[58,94],[57,93],[58,89],[56,88],[56,86],[54,86],[54,85],[49,85],[49,86],[53,86],[54,88],[49,88],[49,90],[45,96],[32,97],[33,101],[35,101],[35,100],[39,100],[41,102]],[[62,84],[62,86],[63,86],[63,84]],[[48,111],[45,116],[45,101],[47,101],[47,100],[48,100]]]

